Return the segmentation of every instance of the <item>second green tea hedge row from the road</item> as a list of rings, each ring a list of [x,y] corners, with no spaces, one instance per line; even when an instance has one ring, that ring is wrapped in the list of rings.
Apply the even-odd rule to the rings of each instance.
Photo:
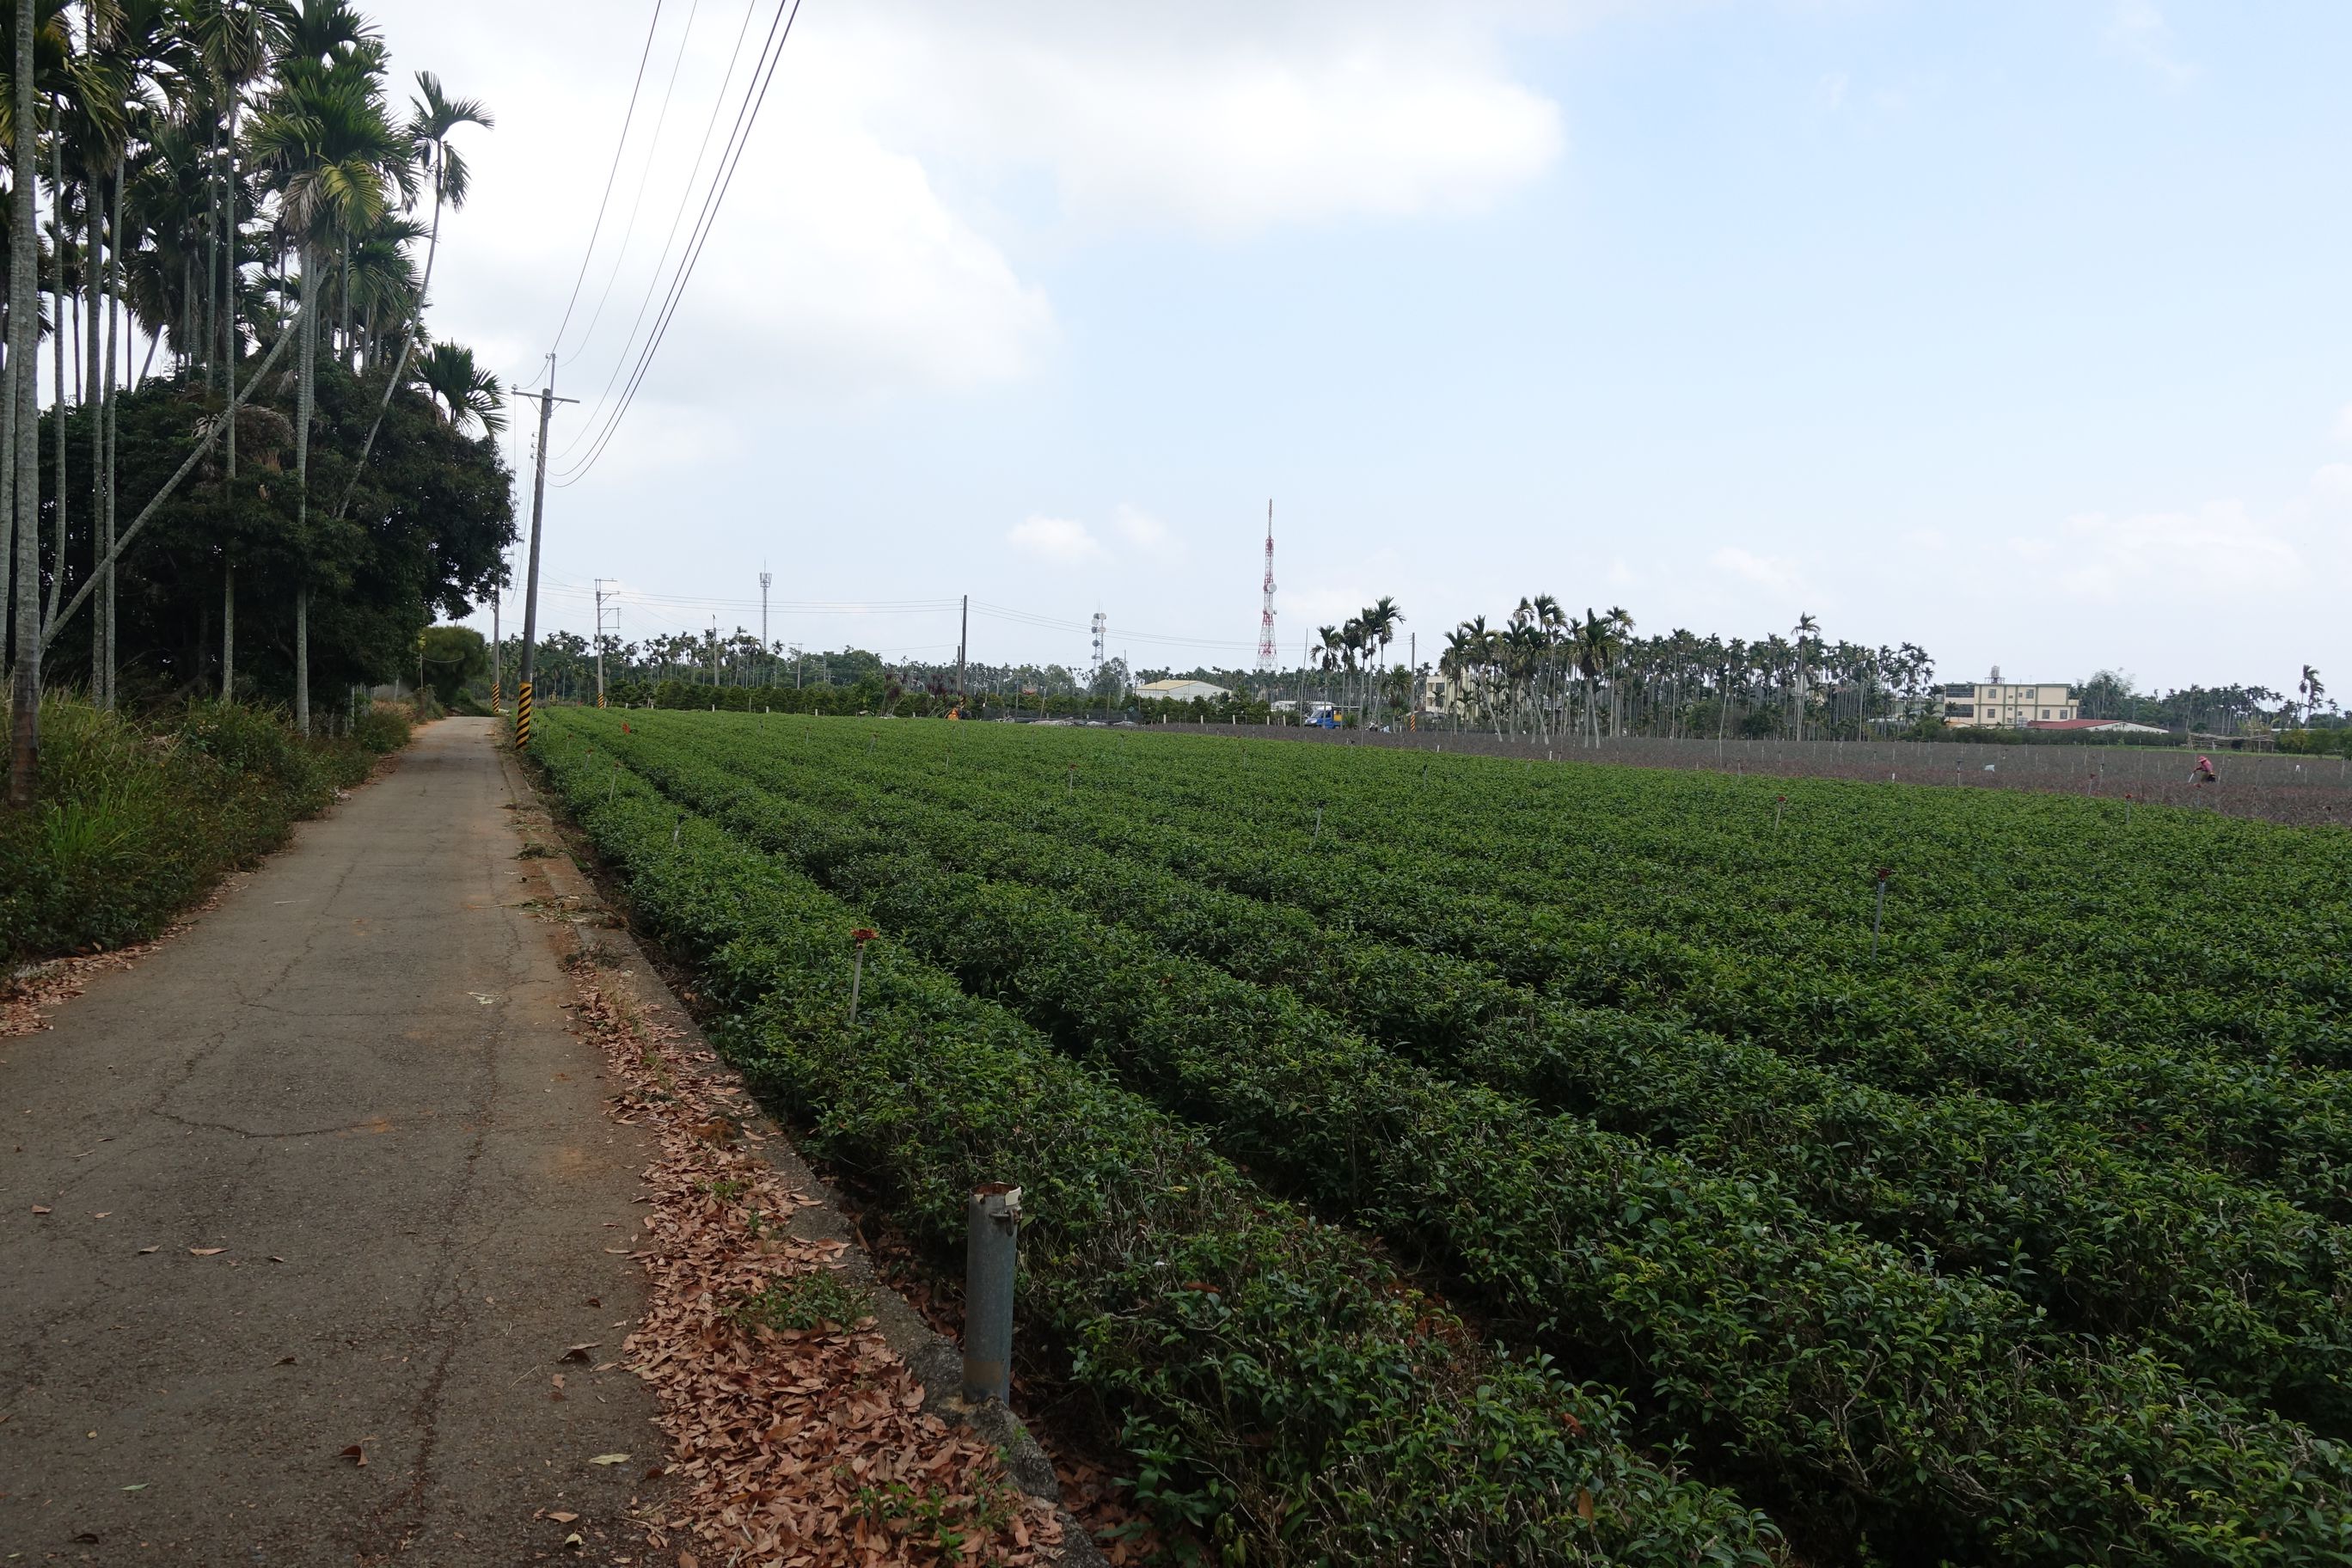
[[[647,726],[633,750],[680,799],[722,809],[739,853],[795,844],[804,811],[696,780],[663,733],[680,731]],[[1254,1175],[1590,1356],[1806,1528],[2049,1563],[2352,1547],[2336,1443],[2152,1354],[2084,1352],[2006,1288],[1922,1269],[1771,1185],[1428,1074],[1047,891],[887,844],[804,865]]]

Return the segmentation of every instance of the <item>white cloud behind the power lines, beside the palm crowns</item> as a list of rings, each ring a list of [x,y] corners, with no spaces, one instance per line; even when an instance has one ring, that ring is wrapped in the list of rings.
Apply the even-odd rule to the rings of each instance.
[[[579,26],[532,33],[532,47],[517,47],[529,21],[508,7],[407,0],[386,14],[402,71],[430,66],[499,115],[496,129],[459,136],[473,197],[445,219],[435,331],[475,343],[494,369],[524,383],[536,378],[536,357],[581,275],[609,136],[628,99],[630,73],[614,63],[614,40],[644,38],[642,7],[586,2],[581,12]],[[682,28],[668,14],[654,42],[663,71],[656,78],[649,68],[649,78],[666,85],[675,61],[675,101],[666,118],[649,113],[649,87],[637,106],[564,331],[557,378],[586,397],[569,411],[574,428],[600,418],[607,386],[619,400],[652,339],[656,268],[666,284],[724,143],[731,113],[689,183],[734,42],[734,31],[710,26],[710,7],[703,12],[682,59]],[[644,416],[647,397],[717,411],[753,395],[771,404],[964,393],[1030,374],[1056,341],[1044,289],[943,197],[913,153],[863,125],[849,82],[814,52],[793,49],[628,425]],[[729,110],[739,89],[741,73]],[[647,176],[652,120],[661,120],[661,143]],[[661,266],[666,240],[673,249]],[[621,440],[630,440],[626,428]],[[649,463],[663,461],[663,444],[637,444]],[[668,461],[689,454],[673,447]]]

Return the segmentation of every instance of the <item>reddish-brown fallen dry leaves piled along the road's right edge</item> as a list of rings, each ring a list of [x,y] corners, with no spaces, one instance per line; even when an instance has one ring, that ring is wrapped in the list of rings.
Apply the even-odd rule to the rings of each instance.
[[[623,1086],[609,1110],[661,1145],[637,1237],[652,1300],[623,1347],[661,1401],[680,1483],[652,1544],[741,1568],[1044,1561],[1061,1542],[1054,1509],[988,1443],[922,1413],[922,1387],[880,1333],[774,1328],[743,1309],[830,1269],[844,1246],[783,1234],[814,1199],[746,1152],[741,1110],[724,1105],[734,1088],[703,1074],[708,1058],[637,1023],[607,985],[581,985],[579,1018]]]

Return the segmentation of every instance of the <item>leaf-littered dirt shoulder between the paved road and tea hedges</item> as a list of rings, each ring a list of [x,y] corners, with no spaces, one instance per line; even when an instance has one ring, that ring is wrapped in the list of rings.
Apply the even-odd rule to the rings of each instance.
[[[1103,1563],[1028,1427],[957,1396],[955,1345],[882,1281],[833,1190],[703,1039],[517,762],[503,766],[550,886],[539,914],[569,931],[576,1030],[626,1084],[612,1114],[661,1145],[635,1239],[652,1302],[626,1347],[673,1439],[654,1544],[680,1563],[866,1561],[833,1547]]]

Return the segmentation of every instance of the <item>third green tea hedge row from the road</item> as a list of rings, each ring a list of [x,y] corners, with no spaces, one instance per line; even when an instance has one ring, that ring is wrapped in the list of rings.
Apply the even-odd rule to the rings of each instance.
[[[642,755],[635,736],[614,736]],[[2328,1434],[2352,1427],[2352,1239],[2277,1197],[2180,1161],[2140,1161],[2063,1107],[1912,1100],[1672,1023],[1562,1009],[1479,966],[1362,940],[1303,912],[1204,889],[1068,835],[1016,827],[1021,799],[971,773],[746,755],[717,736],[656,743],[811,806],[802,858],[910,844],[955,870],[1054,889],[1171,952],[1712,1168],[1771,1175],[1813,1213],[1999,1276],[2067,1326],[2143,1338],[2166,1359]],[[715,792],[713,792],[715,788]],[[703,799],[724,799],[706,778]],[[1122,804],[1098,804],[1120,818]],[[762,818],[769,827],[774,816]],[[1183,835],[1138,827],[1134,835]]]

